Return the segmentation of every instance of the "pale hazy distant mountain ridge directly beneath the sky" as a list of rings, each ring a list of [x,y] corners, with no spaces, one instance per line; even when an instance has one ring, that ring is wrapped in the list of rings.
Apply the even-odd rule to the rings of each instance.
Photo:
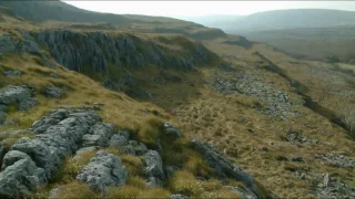
[[[227,33],[297,28],[355,25],[355,12],[322,9],[294,9],[258,12],[245,17],[222,15],[185,18],[203,25],[219,28]]]

